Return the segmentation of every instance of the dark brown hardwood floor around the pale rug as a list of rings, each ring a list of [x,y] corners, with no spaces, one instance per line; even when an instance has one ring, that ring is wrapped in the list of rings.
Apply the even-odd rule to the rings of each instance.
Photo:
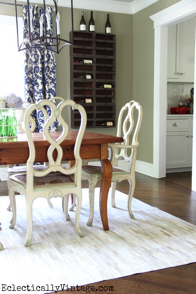
[[[187,183],[186,174],[182,173],[180,177],[179,183],[173,183],[171,179],[155,179],[136,173],[134,198],[196,225],[196,192],[182,185],[183,181]],[[83,180],[82,187],[87,188],[88,181]],[[127,194],[128,181],[117,183],[116,188]],[[7,184],[1,182],[0,195],[7,194]],[[196,294],[196,263],[102,281],[89,286],[102,286],[100,291],[89,292],[97,294]],[[114,291],[104,291],[104,286],[105,289],[113,286]],[[58,292],[62,293],[66,294],[67,291]]]

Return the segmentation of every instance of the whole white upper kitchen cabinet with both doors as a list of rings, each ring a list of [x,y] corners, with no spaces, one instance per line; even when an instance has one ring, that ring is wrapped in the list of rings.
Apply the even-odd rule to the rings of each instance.
[[[168,81],[194,82],[196,17],[168,28]]]

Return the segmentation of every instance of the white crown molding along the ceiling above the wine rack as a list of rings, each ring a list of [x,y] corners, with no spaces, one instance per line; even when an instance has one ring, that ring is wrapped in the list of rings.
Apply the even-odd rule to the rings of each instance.
[[[26,2],[26,0],[21,0]],[[115,0],[73,0],[73,7],[116,13],[134,14],[159,0],[135,0],[131,3]],[[31,0],[31,3],[43,4],[43,0]],[[46,0],[46,5],[54,5],[53,0]],[[58,0],[58,6],[71,7],[70,0]]]

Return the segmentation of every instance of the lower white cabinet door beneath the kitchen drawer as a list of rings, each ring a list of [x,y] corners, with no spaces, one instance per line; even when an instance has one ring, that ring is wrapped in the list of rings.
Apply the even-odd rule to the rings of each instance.
[[[188,164],[188,139],[188,131],[167,132],[166,166],[178,166]]]

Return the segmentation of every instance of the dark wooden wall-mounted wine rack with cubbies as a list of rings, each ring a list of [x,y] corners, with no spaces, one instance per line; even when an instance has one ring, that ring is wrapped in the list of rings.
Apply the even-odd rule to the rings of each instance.
[[[91,99],[91,103],[81,104],[87,114],[87,128],[112,128],[116,125],[115,81],[116,49],[115,35],[96,32],[70,32],[70,95],[74,101]],[[80,63],[81,60],[93,63]],[[91,78],[79,77],[90,75]],[[100,85],[112,85],[112,88],[100,88]],[[112,126],[97,124],[112,122]],[[80,114],[71,109],[71,128],[80,126]]]

